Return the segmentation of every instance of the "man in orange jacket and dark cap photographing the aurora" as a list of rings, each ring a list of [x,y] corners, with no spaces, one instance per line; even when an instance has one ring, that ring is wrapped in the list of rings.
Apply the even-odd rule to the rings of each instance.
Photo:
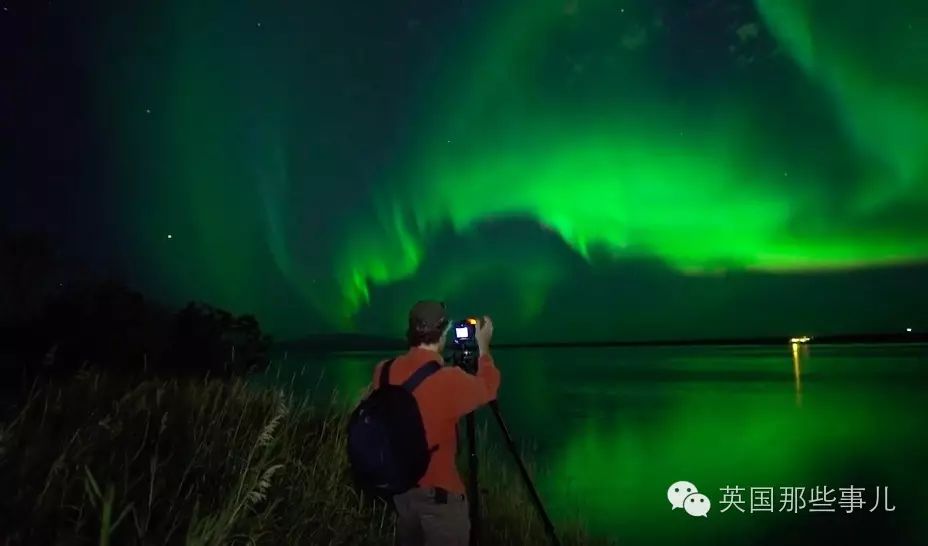
[[[470,536],[470,519],[464,483],[455,467],[457,423],[461,417],[496,399],[499,370],[490,356],[493,322],[483,317],[476,338],[480,359],[476,375],[446,366],[441,356],[448,330],[445,306],[420,301],[409,312],[406,339],[409,351],[393,361],[390,384],[401,384],[430,361],[442,368],[413,391],[422,414],[425,436],[433,450],[425,475],[417,487],[393,497],[397,513],[397,538],[402,546],[464,546]],[[373,386],[380,386],[380,370],[374,370]]]

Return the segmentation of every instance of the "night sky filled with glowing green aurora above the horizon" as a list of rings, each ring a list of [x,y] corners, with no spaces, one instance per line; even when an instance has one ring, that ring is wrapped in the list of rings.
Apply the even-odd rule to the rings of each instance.
[[[0,0],[4,223],[278,337],[928,328],[924,0]]]

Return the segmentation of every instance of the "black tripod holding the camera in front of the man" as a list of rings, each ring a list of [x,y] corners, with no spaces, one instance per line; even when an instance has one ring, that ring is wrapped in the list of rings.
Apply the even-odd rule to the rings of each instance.
[[[456,366],[459,366],[467,373],[476,374],[478,356],[479,352],[476,350],[476,348],[461,347],[455,349],[452,356],[452,362],[454,362]],[[499,425],[499,430],[502,433],[503,438],[506,440],[506,447],[509,449],[509,453],[515,460],[516,466],[519,467],[519,474],[522,476],[522,482],[525,484],[525,488],[528,489],[529,496],[532,498],[532,504],[535,505],[535,509],[538,511],[538,515],[541,516],[541,520],[545,526],[545,532],[548,534],[548,538],[551,540],[551,544],[554,546],[560,546],[561,543],[557,538],[557,533],[554,530],[554,524],[551,523],[551,518],[548,517],[548,512],[545,510],[544,503],[542,503],[541,497],[538,495],[538,490],[535,489],[535,484],[532,482],[532,477],[529,475],[528,469],[525,467],[525,462],[522,460],[522,456],[519,455],[516,442],[512,439],[512,435],[509,433],[509,427],[506,426],[506,422],[503,420],[503,415],[499,409],[499,402],[497,400],[493,400],[489,405],[490,409],[493,410],[493,417],[496,419],[496,424]],[[477,469],[479,463],[477,457],[477,426],[474,420],[473,412],[467,414],[465,417],[465,423],[467,430],[467,444],[470,450],[468,453],[468,466],[470,467],[470,473],[467,484],[468,501],[470,503],[470,546],[477,546],[480,542],[480,489],[477,480]]]

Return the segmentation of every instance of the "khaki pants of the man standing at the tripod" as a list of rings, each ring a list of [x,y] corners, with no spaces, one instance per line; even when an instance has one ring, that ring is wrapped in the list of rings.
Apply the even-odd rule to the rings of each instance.
[[[467,546],[470,518],[467,498],[448,493],[448,502],[435,502],[435,489],[415,487],[393,497],[396,538],[400,546]]]

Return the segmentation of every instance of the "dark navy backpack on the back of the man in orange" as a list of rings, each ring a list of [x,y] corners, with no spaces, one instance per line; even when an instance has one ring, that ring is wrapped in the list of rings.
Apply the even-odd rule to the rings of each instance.
[[[419,404],[412,393],[441,369],[427,362],[402,385],[391,385],[390,367],[380,370],[380,386],[365,398],[348,420],[348,461],[358,485],[378,496],[412,489],[425,474],[438,448],[429,448]]]

